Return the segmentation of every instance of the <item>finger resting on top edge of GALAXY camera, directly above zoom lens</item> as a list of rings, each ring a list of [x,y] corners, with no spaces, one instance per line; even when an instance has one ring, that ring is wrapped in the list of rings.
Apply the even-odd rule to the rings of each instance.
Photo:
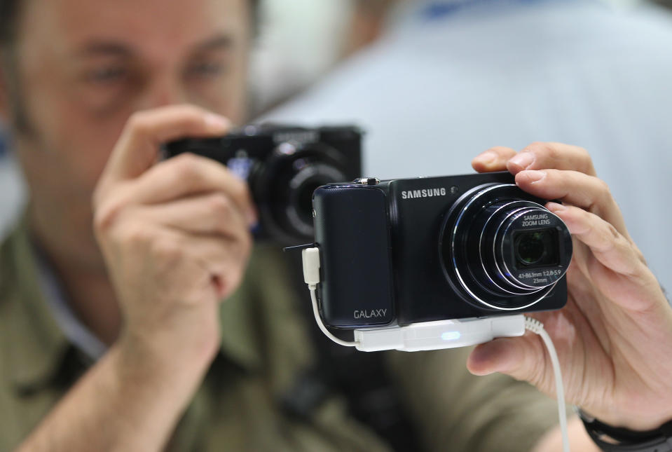
[[[568,170],[526,170],[516,174],[516,184],[543,199],[558,199],[598,215],[630,239],[609,186],[597,177]]]

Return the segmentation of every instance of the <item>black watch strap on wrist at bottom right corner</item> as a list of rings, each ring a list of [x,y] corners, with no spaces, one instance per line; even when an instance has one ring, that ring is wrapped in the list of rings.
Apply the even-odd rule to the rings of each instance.
[[[591,439],[604,452],[672,452],[672,420],[656,430],[634,432],[601,423],[582,411],[579,411],[579,416]],[[618,442],[613,444],[605,437]]]

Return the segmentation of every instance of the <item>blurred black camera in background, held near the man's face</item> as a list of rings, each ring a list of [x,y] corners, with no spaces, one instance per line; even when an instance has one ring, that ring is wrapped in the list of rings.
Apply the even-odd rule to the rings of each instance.
[[[259,210],[256,239],[296,245],[313,239],[313,191],[361,173],[362,130],[247,125],[224,137],[164,146],[166,157],[183,152],[217,160],[247,180]]]

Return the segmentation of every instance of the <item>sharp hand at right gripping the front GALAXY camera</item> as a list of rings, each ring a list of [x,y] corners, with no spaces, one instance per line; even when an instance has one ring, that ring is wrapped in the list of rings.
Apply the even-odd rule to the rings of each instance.
[[[650,430],[672,419],[672,308],[626,230],[587,151],[557,143],[520,153],[493,148],[472,162],[479,172],[509,170],[524,191],[562,200],[547,208],[567,224],[574,255],[568,303],[537,313],[558,350],[566,397],[615,426]],[[509,374],[554,396],[554,374],[539,336],[479,345],[474,374]]]

